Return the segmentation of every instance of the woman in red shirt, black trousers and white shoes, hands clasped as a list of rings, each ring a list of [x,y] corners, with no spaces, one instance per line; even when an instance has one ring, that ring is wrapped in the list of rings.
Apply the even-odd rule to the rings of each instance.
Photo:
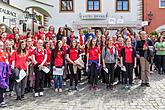
[[[43,96],[45,77],[43,69],[47,61],[47,51],[43,48],[43,40],[41,39],[37,41],[37,47],[34,49],[32,54],[32,61],[35,65],[35,97],[38,97],[39,95]]]

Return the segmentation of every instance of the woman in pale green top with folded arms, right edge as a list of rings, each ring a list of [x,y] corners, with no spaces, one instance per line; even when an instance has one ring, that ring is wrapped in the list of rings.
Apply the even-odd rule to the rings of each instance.
[[[165,74],[165,42],[163,36],[158,38],[158,41],[155,43],[155,48],[158,61],[158,73]]]

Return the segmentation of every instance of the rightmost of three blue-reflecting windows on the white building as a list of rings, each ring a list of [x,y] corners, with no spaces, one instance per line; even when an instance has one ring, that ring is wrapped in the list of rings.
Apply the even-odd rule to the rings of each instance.
[[[116,0],[116,11],[129,11],[129,0]]]

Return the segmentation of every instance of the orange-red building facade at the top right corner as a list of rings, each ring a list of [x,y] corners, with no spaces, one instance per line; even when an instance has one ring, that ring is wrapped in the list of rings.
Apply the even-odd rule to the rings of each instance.
[[[144,20],[148,21],[145,31],[165,31],[165,0],[144,0]]]

